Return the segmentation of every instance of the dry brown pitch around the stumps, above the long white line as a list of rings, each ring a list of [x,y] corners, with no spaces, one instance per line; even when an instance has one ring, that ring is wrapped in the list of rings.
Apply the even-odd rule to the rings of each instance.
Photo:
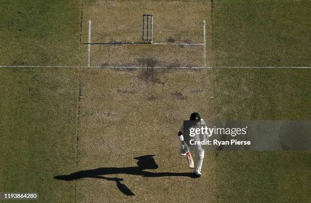
[[[153,58],[161,66],[202,66],[202,45],[176,44],[203,44],[206,20],[206,46],[211,47],[210,9],[208,1],[83,2],[82,42],[88,42],[88,20],[92,43],[141,42],[142,15],[152,14],[153,43],[169,45],[91,45],[91,65],[139,66]]]

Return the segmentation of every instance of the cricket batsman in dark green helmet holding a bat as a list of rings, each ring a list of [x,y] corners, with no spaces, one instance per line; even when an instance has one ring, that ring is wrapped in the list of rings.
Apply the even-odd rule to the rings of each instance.
[[[190,123],[190,124],[187,124]],[[186,126],[185,126],[186,124]],[[181,149],[180,153],[181,155],[185,154],[185,146],[190,146],[190,150],[195,152],[195,161],[194,161],[194,171],[193,173],[200,177],[201,174],[201,167],[203,163],[204,158],[204,149],[202,149],[201,145],[190,145],[190,140],[200,141],[199,134],[196,134],[194,137],[190,137],[190,128],[201,128],[205,127],[206,123],[203,119],[201,119],[199,113],[194,112],[190,115],[190,120],[182,123],[179,132],[178,132],[178,138],[181,141]],[[206,134],[203,134],[203,139],[206,139]],[[201,136],[202,138],[202,136]],[[186,145],[185,145],[186,144]]]

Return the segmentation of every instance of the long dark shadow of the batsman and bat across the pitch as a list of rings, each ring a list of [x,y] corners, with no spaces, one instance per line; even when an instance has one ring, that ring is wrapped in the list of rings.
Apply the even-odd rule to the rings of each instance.
[[[108,178],[104,175],[111,174],[130,174],[137,175],[142,177],[166,177],[166,176],[186,176],[190,178],[195,178],[193,173],[171,173],[171,172],[147,172],[144,170],[156,169],[159,166],[155,163],[154,155],[144,155],[135,157],[137,159],[137,166],[133,167],[101,167],[92,170],[78,171],[69,175],[60,175],[55,176],[54,179],[64,180],[64,181],[73,181],[81,178],[99,178],[105,179],[108,181],[115,181],[119,190],[126,195],[135,195],[126,185],[122,184],[120,181],[123,181],[122,178]]]

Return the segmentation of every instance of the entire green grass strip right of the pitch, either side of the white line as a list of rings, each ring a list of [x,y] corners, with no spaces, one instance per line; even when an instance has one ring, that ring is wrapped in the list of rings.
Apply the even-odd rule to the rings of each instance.
[[[310,66],[305,1],[213,1],[215,65]],[[226,120],[310,119],[310,71],[214,69]],[[216,153],[218,202],[309,202],[310,152]]]

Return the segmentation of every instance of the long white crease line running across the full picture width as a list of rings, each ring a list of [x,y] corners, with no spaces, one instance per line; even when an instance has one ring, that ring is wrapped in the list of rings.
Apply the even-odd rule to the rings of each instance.
[[[79,66],[79,65],[0,65],[0,67],[92,67],[102,69],[141,69],[141,66]],[[155,66],[155,69],[168,69],[167,66]],[[310,66],[198,66],[198,67],[171,67],[172,69],[311,69]]]

